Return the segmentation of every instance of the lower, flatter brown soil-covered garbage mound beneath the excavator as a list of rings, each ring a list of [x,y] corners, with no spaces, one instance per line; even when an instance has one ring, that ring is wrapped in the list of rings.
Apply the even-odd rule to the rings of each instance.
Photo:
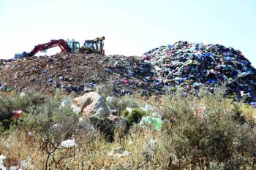
[[[28,57],[0,61],[0,90],[5,92],[36,90],[87,93],[109,85],[113,96],[143,93],[145,72],[150,66],[138,57],[122,55],[57,53],[52,56]],[[136,75],[135,75],[136,74]]]

